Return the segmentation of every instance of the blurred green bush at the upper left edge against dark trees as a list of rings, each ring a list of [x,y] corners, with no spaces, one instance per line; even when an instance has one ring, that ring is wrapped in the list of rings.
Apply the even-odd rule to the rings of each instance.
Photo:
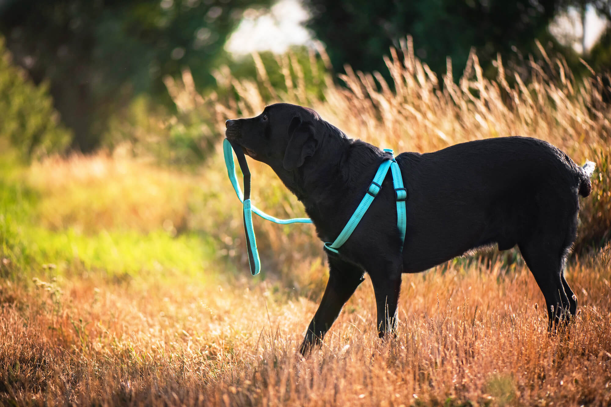
[[[0,36],[0,144],[12,145],[25,160],[61,152],[70,143],[48,87],[48,82],[35,86],[26,71],[12,64]]]

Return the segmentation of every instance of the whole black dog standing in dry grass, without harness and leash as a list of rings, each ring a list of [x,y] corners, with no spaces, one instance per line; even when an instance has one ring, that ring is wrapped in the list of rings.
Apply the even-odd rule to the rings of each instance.
[[[252,119],[227,120],[226,135],[268,164],[304,204],[323,242],[334,241],[389,153],[346,137],[312,109],[279,103]],[[551,144],[507,137],[396,158],[408,190],[401,252],[395,191],[382,189],[339,249],[327,252],[329,282],[301,345],[320,343],[343,304],[371,278],[383,337],[396,324],[401,273],[418,273],[470,249],[516,244],[547,303],[550,327],[575,315],[563,268],[576,238],[579,200],[593,163],[577,166]]]

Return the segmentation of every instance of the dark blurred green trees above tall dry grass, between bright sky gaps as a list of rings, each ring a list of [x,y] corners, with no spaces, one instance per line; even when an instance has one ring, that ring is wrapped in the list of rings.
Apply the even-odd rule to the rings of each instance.
[[[549,40],[547,26],[560,0],[305,0],[307,26],[327,46],[335,68],[386,73],[382,55],[410,34],[415,53],[433,71],[445,73],[446,57],[462,71],[472,46],[481,61],[529,52],[534,39]]]

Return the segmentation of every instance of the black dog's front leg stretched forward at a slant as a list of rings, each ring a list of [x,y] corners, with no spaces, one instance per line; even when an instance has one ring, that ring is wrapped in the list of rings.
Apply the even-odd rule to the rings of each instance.
[[[329,281],[299,348],[302,355],[305,356],[314,345],[322,343],[324,334],[331,328],[343,305],[363,281],[363,274],[364,271],[357,266],[329,256]]]

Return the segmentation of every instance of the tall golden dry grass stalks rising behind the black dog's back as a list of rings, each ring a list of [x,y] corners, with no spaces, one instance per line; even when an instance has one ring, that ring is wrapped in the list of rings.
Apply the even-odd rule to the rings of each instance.
[[[238,81],[226,67],[221,68],[215,75],[219,87],[230,88],[238,97],[217,103],[217,95],[212,94],[209,100],[221,115],[221,134],[225,119],[254,116],[266,104],[283,101],[311,106],[349,136],[400,150],[428,152],[473,139],[521,135],[545,139],[577,161],[584,160],[590,153],[584,147],[607,146],[611,137],[601,78],[593,75],[577,81],[562,58],[551,59],[537,44],[541,59],[530,57],[520,72],[506,71],[499,56],[494,62],[497,78],[493,80],[483,76],[477,54],[472,51],[456,84],[450,60],[447,73],[438,78],[415,57],[408,37],[401,42],[400,53],[391,49],[390,57],[384,58],[391,84],[378,72],[354,72],[346,65],[346,73],[338,75],[345,86],[336,84],[328,73],[324,75],[323,99],[302,91],[304,67],[296,64],[291,54],[277,58],[285,78],[286,89],[282,90],[271,88],[265,66],[255,54],[259,80]],[[317,49],[328,64],[324,49]],[[316,70],[315,60],[309,68]],[[172,82],[170,94],[177,105],[192,106],[181,102],[185,99],[200,100],[205,105],[207,101],[201,100],[189,83]],[[272,95],[271,100],[262,97],[263,89]]]

